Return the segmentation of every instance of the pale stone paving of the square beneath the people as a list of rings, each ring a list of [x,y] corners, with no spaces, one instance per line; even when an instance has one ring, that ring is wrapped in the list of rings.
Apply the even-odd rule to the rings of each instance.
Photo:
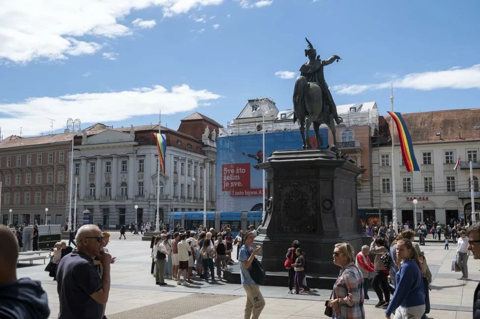
[[[127,233],[127,240],[118,240],[118,235],[112,233],[108,249],[112,256],[117,258],[112,266],[112,285],[106,307],[107,318],[186,319],[198,318],[197,315],[207,315],[209,319],[243,318],[245,293],[239,284],[225,281],[206,283],[194,278],[195,283],[190,286],[177,286],[174,280],[166,280],[168,284],[162,287],[155,285],[155,279],[150,274],[150,243],[141,241],[140,237]],[[443,242],[427,242],[426,246],[421,246],[433,277],[430,292],[432,311],[428,317],[470,319],[474,290],[480,280],[480,263],[470,256],[468,261],[470,280],[459,280],[461,273],[450,271],[456,255],[456,245],[450,244],[450,250],[444,250],[443,247]],[[43,288],[48,293],[50,318],[57,318],[59,304],[56,281],[51,280],[44,269],[43,263],[34,266],[23,263],[18,268],[17,275],[19,278],[41,280]],[[330,297],[331,290],[313,288],[313,295],[290,295],[287,294],[287,287],[262,286],[266,306],[260,318],[326,318],[323,315],[325,300]],[[205,296],[200,297],[199,294]],[[220,296],[212,298],[212,295]],[[372,289],[369,296],[371,299],[365,304],[367,318],[385,318],[384,309],[374,307],[378,299]]]

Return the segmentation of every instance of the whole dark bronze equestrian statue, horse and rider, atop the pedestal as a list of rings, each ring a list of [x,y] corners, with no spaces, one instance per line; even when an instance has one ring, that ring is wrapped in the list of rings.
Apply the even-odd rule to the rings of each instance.
[[[305,40],[308,43],[308,48],[305,49],[308,62],[301,66],[300,76],[296,79],[293,89],[293,123],[298,120],[304,149],[312,148],[310,144],[310,126],[312,123],[318,148],[323,144],[319,132],[322,124],[327,124],[332,131],[334,145],[336,145],[335,123],[340,124],[343,120],[336,113],[336,105],[327,82],[325,82],[323,67],[341,59],[338,55],[333,55],[328,60],[321,60],[310,41],[307,38]],[[305,129],[307,130],[306,138],[304,135]]]

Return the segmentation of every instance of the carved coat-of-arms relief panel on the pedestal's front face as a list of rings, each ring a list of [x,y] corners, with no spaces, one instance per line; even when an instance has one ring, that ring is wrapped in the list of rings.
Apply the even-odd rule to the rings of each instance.
[[[317,230],[314,182],[279,183],[276,192],[277,229],[284,233],[306,233]]]

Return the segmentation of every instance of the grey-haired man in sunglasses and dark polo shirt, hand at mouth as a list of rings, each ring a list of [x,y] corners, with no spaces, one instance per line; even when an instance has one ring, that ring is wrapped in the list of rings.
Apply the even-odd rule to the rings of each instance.
[[[82,226],[75,239],[77,248],[58,264],[58,319],[101,319],[110,292],[112,256],[102,251],[103,236],[95,225]],[[93,258],[96,256],[103,266],[101,277],[94,266]]]

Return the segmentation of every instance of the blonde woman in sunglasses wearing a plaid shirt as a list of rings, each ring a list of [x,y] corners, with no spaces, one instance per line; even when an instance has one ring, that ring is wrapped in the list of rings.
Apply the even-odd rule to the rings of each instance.
[[[334,249],[334,264],[341,267],[334,284],[334,299],[330,307],[334,319],[365,319],[363,308],[363,275],[355,266],[355,250],[349,243],[339,243]]]

